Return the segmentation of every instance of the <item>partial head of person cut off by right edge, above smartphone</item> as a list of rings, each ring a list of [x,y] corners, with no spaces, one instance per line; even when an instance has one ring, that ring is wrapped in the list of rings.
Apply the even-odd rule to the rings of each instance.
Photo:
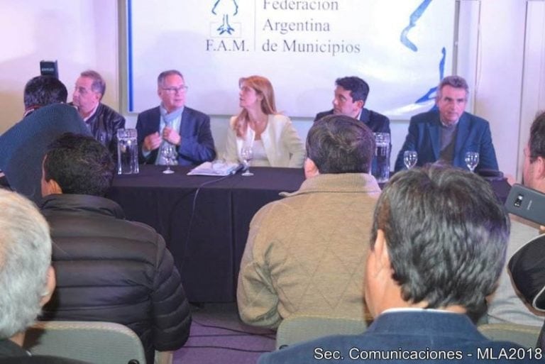
[[[545,191],[545,112],[536,116],[524,148],[524,184]]]

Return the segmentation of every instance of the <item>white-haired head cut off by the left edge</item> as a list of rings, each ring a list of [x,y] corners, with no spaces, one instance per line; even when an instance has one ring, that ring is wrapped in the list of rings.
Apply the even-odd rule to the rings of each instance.
[[[55,289],[49,226],[32,202],[0,189],[0,340],[31,326]]]

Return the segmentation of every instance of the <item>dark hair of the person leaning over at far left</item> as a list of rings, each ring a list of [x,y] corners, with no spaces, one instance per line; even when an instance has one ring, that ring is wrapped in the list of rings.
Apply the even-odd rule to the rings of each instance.
[[[32,106],[65,103],[68,92],[65,85],[53,76],[36,76],[25,85],[23,100],[25,109]]]

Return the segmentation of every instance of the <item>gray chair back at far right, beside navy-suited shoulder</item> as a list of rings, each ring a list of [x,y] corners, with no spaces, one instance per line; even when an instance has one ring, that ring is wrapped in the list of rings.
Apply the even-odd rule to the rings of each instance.
[[[495,341],[512,341],[526,348],[535,348],[540,327],[520,324],[484,324],[478,326],[480,333]]]

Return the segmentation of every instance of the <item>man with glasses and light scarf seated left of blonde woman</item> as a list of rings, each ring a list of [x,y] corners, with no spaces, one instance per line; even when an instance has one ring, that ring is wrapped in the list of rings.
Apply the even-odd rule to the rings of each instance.
[[[199,165],[214,160],[214,138],[210,118],[185,106],[187,86],[177,70],[161,72],[157,78],[160,106],[138,114],[138,154],[141,163],[164,165],[161,150],[175,145],[179,165]]]

